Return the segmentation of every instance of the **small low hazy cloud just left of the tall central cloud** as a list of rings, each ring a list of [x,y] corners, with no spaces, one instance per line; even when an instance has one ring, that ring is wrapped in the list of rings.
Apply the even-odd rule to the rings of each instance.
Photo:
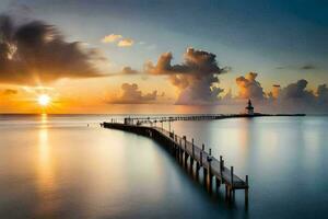
[[[162,95],[164,94],[162,93]],[[121,84],[121,94],[117,97],[112,97],[107,102],[113,104],[149,104],[154,103],[157,97],[157,91],[143,94],[137,83],[124,83]]]

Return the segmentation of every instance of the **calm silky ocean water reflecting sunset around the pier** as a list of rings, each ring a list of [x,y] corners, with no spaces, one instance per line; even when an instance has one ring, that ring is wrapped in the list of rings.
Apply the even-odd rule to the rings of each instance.
[[[234,204],[153,140],[104,115],[1,115],[0,218],[315,218],[328,215],[328,117],[176,122],[249,175]],[[164,124],[168,128],[168,124]]]

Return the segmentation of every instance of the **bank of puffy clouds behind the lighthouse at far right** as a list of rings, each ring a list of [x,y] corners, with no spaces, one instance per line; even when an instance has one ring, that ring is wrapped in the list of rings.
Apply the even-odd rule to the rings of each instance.
[[[273,84],[272,90],[266,93],[261,83],[257,81],[257,73],[249,72],[238,77],[237,96],[231,97],[235,103],[241,99],[251,99],[257,106],[271,113],[323,113],[328,111],[328,88],[320,84],[314,90],[308,90],[308,82],[301,79],[282,88]]]

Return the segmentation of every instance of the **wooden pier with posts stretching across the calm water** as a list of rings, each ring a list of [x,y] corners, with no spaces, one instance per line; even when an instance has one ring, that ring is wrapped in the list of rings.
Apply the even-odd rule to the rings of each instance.
[[[186,136],[180,137],[160,127],[121,123],[103,123],[102,126],[147,136],[159,141],[175,155],[183,166],[187,170],[195,170],[197,177],[199,177],[199,172],[202,169],[203,178],[210,192],[213,187],[213,181],[215,181],[218,189],[221,185],[225,185],[225,198],[231,201],[234,199],[235,191],[244,189],[245,206],[248,206],[248,176],[246,175],[245,180],[242,180],[234,174],[234,168],[226,168],[222,157],[219,160],[212,157],[211,149],[207,152],[204,145],[196,146],[194,139],[189,141]]]

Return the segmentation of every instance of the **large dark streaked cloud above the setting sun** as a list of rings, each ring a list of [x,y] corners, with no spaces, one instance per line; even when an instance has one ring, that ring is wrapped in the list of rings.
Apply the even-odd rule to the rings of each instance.
[[[62,78],[103,77],[96,68],[103,61],[98,50],[66,42],[54,25],[14,24],[11,16],[0,16],[0,83],[35,85]]]

